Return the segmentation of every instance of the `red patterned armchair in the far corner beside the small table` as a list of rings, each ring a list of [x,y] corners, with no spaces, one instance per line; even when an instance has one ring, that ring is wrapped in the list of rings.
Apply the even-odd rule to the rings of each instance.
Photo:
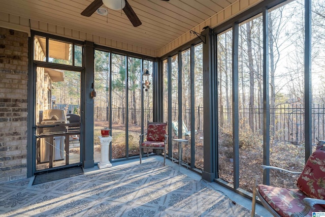
[[[147,156],[149,157],[148,149],[164,150],[164,166],[166,165],[166,144],[168,136],[166,134],[167,123],[164,122],[149,122],[146,134],[140,135],[140,164],[142,163],[142,149],[147,148]],[[147,135],[144,141],[144,136]]]

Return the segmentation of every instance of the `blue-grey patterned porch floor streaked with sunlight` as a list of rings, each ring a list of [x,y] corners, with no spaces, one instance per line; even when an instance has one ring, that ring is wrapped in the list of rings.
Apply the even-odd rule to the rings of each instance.
[[[156,158],[31,185],[0,184],[4,216],[250,216],[250,210]]]

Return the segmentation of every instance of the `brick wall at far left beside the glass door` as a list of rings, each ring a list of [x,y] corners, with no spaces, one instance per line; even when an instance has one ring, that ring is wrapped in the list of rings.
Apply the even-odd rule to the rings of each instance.
[[[28,34],[0,27],[0,183],[27,174]]]

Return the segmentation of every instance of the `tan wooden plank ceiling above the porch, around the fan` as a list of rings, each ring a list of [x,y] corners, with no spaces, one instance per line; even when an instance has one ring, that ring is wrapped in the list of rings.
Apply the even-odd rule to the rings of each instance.
[[[142,25],[122,10],[108,15],[80,13],[92,0],[2,0],[0,11],[158,50],[236,0],[128,0]],[[102,7],[105,8],[103,5]]]

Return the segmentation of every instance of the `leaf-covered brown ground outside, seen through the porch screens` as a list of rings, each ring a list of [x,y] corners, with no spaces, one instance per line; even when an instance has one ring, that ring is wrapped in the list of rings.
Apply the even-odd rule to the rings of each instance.
[[[100,142],[98,136],[100,129],[107,127],[108,123],[104,121],[95,121],[94,130],[94,149],[95,152],[100,152]],[[128,127],[128,142],[129,142],[129,156],[139,155],[139,134],[141,132],[140,126]],[[112,131],[112,159],[119,159],[125,157],[125,126],[113,125]],[[199,136],[197,136],[199,138]],[[263,140],[261,136],[252,135],[251,133],[243,132],[240,134],[240,149],[239,149],[239,180],[240,188],[252,192],[252,188],[257,178],[259,183],[263,182],[262,172],[259,168],[263,164]],[[229,133],[219,134],[218,136],[218,173],[219,178],[233,183],[233,148],[232,135]],[[315,148],[315,147],[313,147]],[[149,150],[152,151],[152,150]],[[270,165],[281,167],[291,171],[302,171],[305,165],[305,153],[303,144],[293,144],[290,142],[282,142],[271,140],[270,146]],[[174,146],[173,157],[177,157],[177,147]],[[184,158],[184,160],[190,159]],[[201,140],[196,141],[196,168],[203,170],[203,145]],[[270,184],[286,187],[296,188],[296,181],[298,175],[292,175],[280,171],[270,172]]]

